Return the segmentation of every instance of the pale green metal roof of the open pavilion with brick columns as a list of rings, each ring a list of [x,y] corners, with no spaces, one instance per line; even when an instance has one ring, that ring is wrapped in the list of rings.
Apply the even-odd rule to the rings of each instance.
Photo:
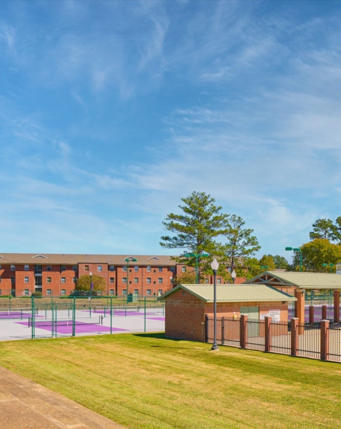
[[[243,284],[266,284],[301,289],[341,289],[341,274],[266,271]]]

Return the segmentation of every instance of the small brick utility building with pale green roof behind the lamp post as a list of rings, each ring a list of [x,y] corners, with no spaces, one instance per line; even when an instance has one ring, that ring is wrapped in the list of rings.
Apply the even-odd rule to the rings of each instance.
[[[213,285],[179,285],[165,300],[165,334],[169,338],[205,341],[206,315],[213,316]],[[250,319],[288,320],[288,302],[296,298],[266,285],[218,285],[217,317],[246,314]]]

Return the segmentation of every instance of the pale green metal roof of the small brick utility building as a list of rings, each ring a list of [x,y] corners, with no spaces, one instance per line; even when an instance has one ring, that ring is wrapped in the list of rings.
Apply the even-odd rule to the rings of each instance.
[[[213,302],[213,285],[179,285],[158,297],[164,300],[179,289],[185,290],[205,302]],[[296,301],[285,292],[266,285],[217,285],[217,302]]]

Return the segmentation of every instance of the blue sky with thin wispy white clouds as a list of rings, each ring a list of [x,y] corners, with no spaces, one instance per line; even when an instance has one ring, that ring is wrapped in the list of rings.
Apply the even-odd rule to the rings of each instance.
[[[340,22],[340,1],[1,1],[2,252],[178,254],[162,221],[198,191],[291,261],[341,215]]]

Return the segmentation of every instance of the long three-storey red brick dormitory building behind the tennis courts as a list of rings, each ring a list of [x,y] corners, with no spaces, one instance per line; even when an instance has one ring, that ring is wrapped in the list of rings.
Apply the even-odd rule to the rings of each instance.
[[[126,259],[136,259],[126,262]],[[103,295],[160,296],[174,286],[175,277],[186,270],[171,256],[98,254],[0,254],[0,295],[68,296],[82,275],[105,280]],[[127,272],[129,270],[129,272]],[[211,283],[208,277],[206,283]],[[223,284],[222,278],[217,278]]]

